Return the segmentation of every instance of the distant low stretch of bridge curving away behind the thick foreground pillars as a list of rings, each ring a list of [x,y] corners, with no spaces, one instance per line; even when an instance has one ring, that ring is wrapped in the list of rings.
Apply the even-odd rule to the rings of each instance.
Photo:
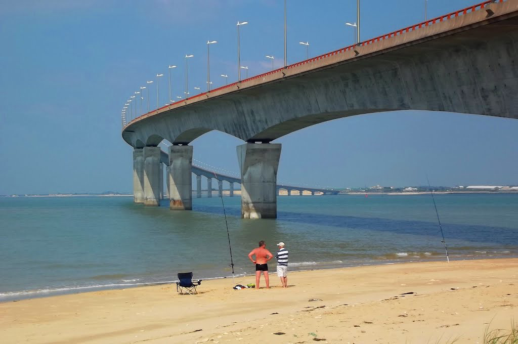
[[[160,163],[166,166],[166,176],[170,174],[169,169],[169,156],[164,151],[160,152]],[[163,167],[161,167],[163,171]],[[201,166],[191,165],[191,172],[196,175],[196,197],[202,197],[202,177],[207,178],[207,197],[212,197],[212,179],[216,179],[218,181],[218,196],[223,196],[223,182],[226,181],[229,184],[229,196],[234,197],[234,183],[241,184],[241,178],[236,178],[233,176],[224,175],[218,173],[217,171],[211,171],[205,169]],[[163,172],[162,175],[163,176]],[[170,193],[170,183],[169,179],[167,180],[167,196]],[[162,186],[163,190],[163,186]],[[298,191],[301,196],[304,191],[308,191],[311,195],[315,195],[315,193],[323,194],[323,195],[337,195],[339,193],[338,190],[330,190],[330,189],[320,189],[320,188],[308,188],[308,187],[297,187],[295,185],[283,185],[278,184],[276,187],[277,194],[279,191],[285,190],[288,195],[292,194],[292,191]]]

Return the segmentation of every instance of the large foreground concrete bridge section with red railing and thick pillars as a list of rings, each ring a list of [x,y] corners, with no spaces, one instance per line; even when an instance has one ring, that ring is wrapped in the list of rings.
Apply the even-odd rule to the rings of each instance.
[[[275,218],[281,145],[270,142],[283,135],[396,110],[518,118],[517,17],[518,0],[486,1],[144,114],[122,130],[135,202],[157,205],[163,139],[171,209],[192,207],[189,143],[219,130],[247,142],[237,147],[242,217]]]

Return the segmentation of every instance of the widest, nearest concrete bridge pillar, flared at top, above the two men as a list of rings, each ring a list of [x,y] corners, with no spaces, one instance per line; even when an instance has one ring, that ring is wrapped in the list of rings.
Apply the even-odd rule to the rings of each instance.
[[[281,144],[237,146],[241,168],[241,218],[277,218],[277,168]]]

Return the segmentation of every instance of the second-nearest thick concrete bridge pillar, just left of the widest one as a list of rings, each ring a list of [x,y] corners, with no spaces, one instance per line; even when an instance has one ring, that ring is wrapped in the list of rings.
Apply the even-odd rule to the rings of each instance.
[[[192,210],[193,146],[169,146],[169,209]]]

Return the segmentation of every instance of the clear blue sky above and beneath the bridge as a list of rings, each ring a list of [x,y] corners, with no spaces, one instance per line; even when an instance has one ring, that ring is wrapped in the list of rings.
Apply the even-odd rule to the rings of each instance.
[[[429,17],[473,0],[429,0]],[[288,63],[304,60],[299,41],[318,55],[352,44],[355,0],[288,0]],[[184,56],[189,80],[237,79],[236,22],[241,64],[249,76],[282,64],[280,0],[65,1],[1,0],[0,194],[132,190],[132,149],[120,135],[126,99],[173,73],[173,96],[183,96]],[[362,1],[362,40],[422,21],[424,1]],[[166,74],[167,75],[167,74]],[[162,80],[161,105],[167,101]],[[177,82],[178,81],[178,82]],[[151,105],[156,106],[151,88]],[[401,111],[335,120],[285,137],[279,180],[359,187],[424,184],[518,184],[518,121],[467,114]],[[235,146],[219,132],[192,142],[194,159],[238,172]]]

